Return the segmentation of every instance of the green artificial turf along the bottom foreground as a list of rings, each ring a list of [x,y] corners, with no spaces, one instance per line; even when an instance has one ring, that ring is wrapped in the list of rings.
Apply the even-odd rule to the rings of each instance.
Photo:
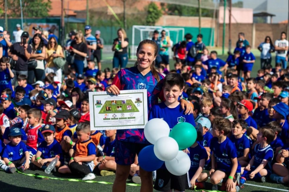
[[[42,175],[49,177],[59,177],[59,178],[77,178],[76,176],[61,175],[59,173],[52,173],[47,175],[44,171],[25,171],[27,174]],[[0,171],[0,191],[16,191],[16,192],[55,192],[55,191],[67,191],[67,192],[109,192],[112,190],[112,184],[101,184],[101,183],[85,183],[85,182],[74,182],[74,181],[62,181],[55,179],[38,178],[33,176],[26,176],[20,173],[5,173]],[[106,181],[113,183],[115,176],[96,176],[94,181]],[[78,178],[80,179],[80,178]],[[127,182],[131,182],[129,178]],[[266,186],[277,189],[283,189],[288,191],[288,184],[275,184],[275,183],[258,183],[253,181],[247,181],[246,183],[254,184],[258,186]],[[241,191],[246,192],[278,192],[276,189],[261,188],[258,186],[248,186],[245,185]],[[211,189],[211,184],[206,182],[206,189]],[[139,191],[140,186],[126,186],[127,192]],[[154,190],[156,191],[156,190]],[[192,191],[187,189],[186,192]]]

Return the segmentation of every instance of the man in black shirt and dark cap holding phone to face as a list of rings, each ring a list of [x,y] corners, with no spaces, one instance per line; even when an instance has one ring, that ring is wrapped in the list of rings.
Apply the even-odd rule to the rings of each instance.
[[[15,43],[10,47],[8,56],[15,62],[14,78],[11,80],[12,87],[14,88],[17,77],[21,74],[28,76],[28,60],[30,59],[32,48],[27,44],[29,41],[29,34],[24,31],[21,35],[21,42]]]

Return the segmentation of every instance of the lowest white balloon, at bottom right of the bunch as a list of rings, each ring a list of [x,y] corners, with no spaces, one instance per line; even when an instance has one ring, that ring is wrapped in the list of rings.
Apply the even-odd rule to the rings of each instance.
[[[165,161],[166,168],[173,175],[186,174],[191,167],[191,160],[187,153],[178,151],[178,155],[171,161]]]

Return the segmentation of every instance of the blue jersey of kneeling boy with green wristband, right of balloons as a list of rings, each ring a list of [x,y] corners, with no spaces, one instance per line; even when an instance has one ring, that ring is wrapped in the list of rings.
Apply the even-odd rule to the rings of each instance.
[[[214,153],[216,167],[215,170],[221,170],[225,173],[230,173],[233,162],[232,158],[237,158],[236,147],[227,137],[222,143],[218,142],[218,137],[213,137],[210,145],[211,151]],[[241,172],[241,166],[238,162],[236,173]]]

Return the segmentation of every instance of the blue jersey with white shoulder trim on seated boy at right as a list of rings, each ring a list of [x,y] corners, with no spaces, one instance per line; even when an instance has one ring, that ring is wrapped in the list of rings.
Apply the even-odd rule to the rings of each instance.
[[[274,152],[270,145],[267,147],[261,148],[260,143],[258,143],[254,148],[254,163],[253,166],[257,168],[263,161],[263,159],[268,160],[269,162],[265,166],[265,169],[269,168],[270,161],[273,160]]]

